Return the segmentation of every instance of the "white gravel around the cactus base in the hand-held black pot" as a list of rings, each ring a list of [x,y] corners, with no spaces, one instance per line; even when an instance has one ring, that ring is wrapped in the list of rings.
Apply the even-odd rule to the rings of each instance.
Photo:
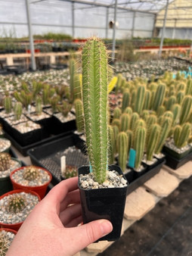
[[[107,180],[104,183],[99,184],[95,181],[94,174],[80,174],[79,175],[79,185],[82,189],[110,189],[110,188],[123,188],[127,186],[127,180],[119,175],[116,170],[107,170]]]

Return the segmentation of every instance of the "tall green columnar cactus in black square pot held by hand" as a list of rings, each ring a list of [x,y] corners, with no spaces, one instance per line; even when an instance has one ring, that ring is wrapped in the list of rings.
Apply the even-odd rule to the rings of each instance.
[[[90,166],[79,168],[83,223],[107,218],[113,231],[101,240],[121,234],[127,181],[122,170],[108,166],[107,51],[99,39],[89,39],[82,49],[82,102]],[[119,187],[114,179],[119,180]],[[88,180],[85,180],[88,179]]]

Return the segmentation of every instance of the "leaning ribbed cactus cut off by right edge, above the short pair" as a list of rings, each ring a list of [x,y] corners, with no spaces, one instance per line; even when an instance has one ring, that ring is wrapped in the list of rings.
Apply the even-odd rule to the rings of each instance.
[[[183,124],[187,121],[187,118],[190,115],[190,110],[192,108],[192,96],[186,95],[181,104],[181,114],[180,114],[180,124]]]

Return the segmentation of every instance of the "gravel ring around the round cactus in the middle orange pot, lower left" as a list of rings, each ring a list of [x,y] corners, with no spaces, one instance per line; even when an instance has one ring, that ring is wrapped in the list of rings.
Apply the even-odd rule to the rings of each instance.
[[[10,213],[7,210],[8,199],[13,197],[13,195],[7,195],[0,200],[0,222],[1,223],[14,224],[14,223],[23,222],[26,219],[26,217],[29,215],[29,213],[33,210],[33,208],[36,206],[36,204],[39,203],[39,198],[36,195],[32,195],[26,192],[17,193],[17,195],[25,196],[26,202],[27,202],[26,207],[23,208],[23,210],[17,214],[14,214],[13,212]]]

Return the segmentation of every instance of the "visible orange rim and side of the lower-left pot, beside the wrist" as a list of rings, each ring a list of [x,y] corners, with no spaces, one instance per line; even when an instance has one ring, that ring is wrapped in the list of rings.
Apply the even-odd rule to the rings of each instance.
[[[16,190],[12,190],[10,192],[7,192],[4,195],[0,196],[0,200],[2,198],[5,198],[5,196],[16,194],[16,193],[20,193],[20,192],[26,192],[26,193],[29,193],[31,195],[36,195],[39,198],[39,201],[41,201],[40,196],[36,192],[34,192],[34,191],[26,191],[26,190],[23,190],[23,189],[16,189]],[[23,224],[23,221],[19,222],[19,223],[13,223],[13,224],[8,224],[8,223],[0,222],[0,226],[2,226],[3,229],[14,229],[16,231],[18,231],[20,229],[20,226],[22,224]]]

